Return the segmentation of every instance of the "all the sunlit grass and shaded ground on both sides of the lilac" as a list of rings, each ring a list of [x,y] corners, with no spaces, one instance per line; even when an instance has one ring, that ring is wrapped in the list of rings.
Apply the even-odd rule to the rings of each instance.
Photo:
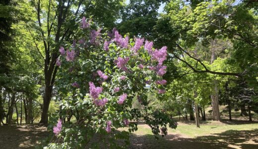
[[[223,109],[221,109],[223,110]],[[258,149],[258,115],[253,122],[248,116],[232,112],[233,121],[222,113],[222,121],[178,121],[176,130],[169,129],[168,135],[155,140],[151,129],[144,123],[130,137],[130,149]],[[49,137],[46,127],[39,125],[0,126],[0,149],[34,149]]]

